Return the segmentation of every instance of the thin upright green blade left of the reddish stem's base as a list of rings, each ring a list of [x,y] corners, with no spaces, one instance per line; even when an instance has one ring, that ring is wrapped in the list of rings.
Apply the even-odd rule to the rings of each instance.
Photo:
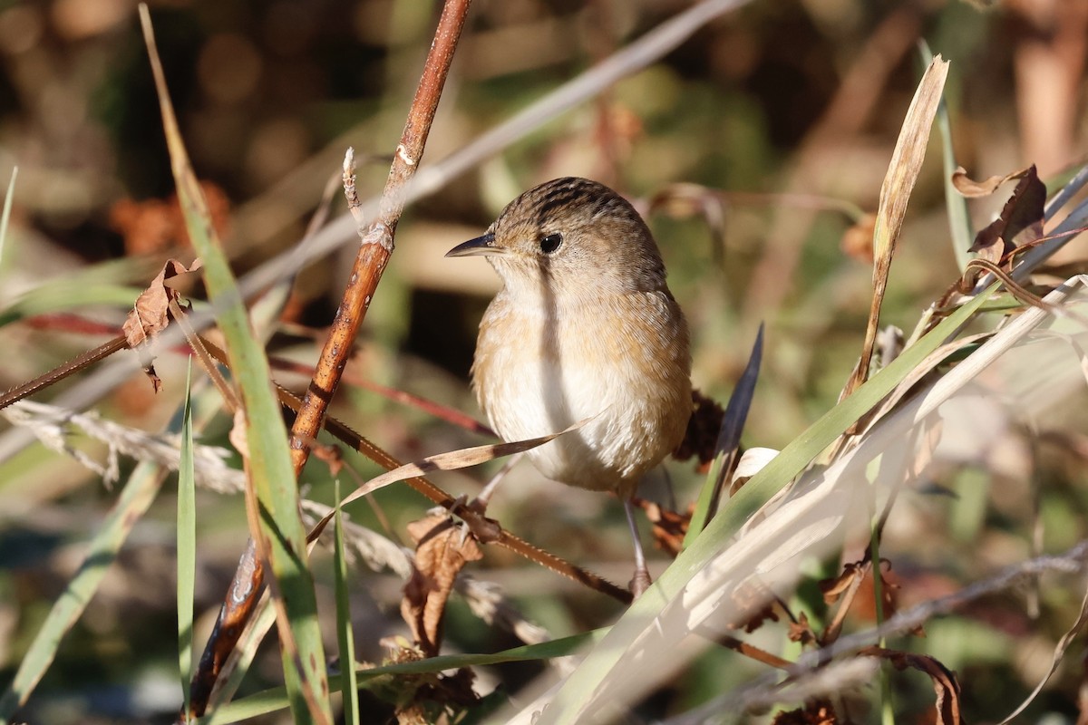
[[[181,461],[177,466],[177,672],[182,679],[184,709],[189,712],[193,679],[193,599],[196,590],[197,513],[196,475],[193,462],[193,359],[185,374],[185,408],[182,412]]]

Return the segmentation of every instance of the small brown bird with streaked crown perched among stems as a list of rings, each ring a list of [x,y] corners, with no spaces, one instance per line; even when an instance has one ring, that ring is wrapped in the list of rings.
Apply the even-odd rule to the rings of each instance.
[[[691,415],[688,325],[639,213],[584,178],[542,184],[447,257],[485,255],[504,287],[480,323],[472,383],[504,440],[591,418],[528,455],[554,480],[615,491],[650,575],[630,498],[680,443]]]

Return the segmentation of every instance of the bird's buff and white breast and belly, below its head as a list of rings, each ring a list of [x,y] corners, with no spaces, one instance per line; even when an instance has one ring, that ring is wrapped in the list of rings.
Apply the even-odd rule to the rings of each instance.
[[[590,418],[530,458],[555,480],[629,492],[679,443],[690,412],[676,303],[639,292],[543,314],[516,302],[499,295],[481,323],[473,382],[492,426],[521,440]]]

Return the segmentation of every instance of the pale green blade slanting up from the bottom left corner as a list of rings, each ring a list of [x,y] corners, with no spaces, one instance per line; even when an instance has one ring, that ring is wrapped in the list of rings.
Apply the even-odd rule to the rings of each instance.
[[[72,628],[94,598],[102,577],[132,532],[147,512],[162,485],[163,474],[152,463],[141,463],[133,471],[121,496],[90,540],[79,570],[53,603],[45,623],[18,665],[15,678],[0,696],[0,722],[7,723],[26,703],[34,688],[57,657],[64,635]]]

